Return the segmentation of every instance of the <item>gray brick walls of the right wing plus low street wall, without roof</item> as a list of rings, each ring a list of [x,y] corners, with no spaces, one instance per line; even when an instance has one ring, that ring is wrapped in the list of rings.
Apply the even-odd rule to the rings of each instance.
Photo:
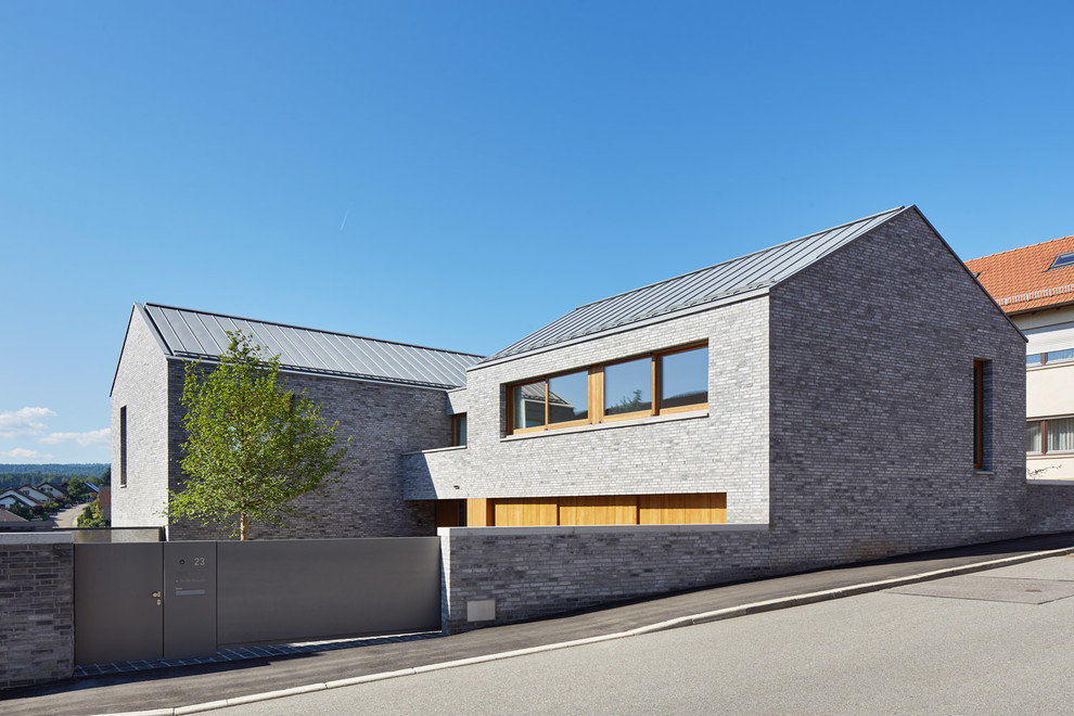
[[[508,383],[695,341],[707,414],[506,435]],[[474,601],[495,600],[486,623],[502,623],[1025,533],[1024,342],[916,209],[767,294],[469,375],[470,446],[407,456],[408,496],[726,491],[731,524],[447,530],[452,629],[473,626]]]

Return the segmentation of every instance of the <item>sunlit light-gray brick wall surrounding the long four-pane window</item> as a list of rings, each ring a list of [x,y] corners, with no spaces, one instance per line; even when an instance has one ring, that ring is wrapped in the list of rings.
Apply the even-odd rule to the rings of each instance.
[[[469,445],[407,456],[410,499],[727,493],[728,522],[768,520],[764,296],[468,373]],[[506,436],[504,385],[708,341],[707,414]]]

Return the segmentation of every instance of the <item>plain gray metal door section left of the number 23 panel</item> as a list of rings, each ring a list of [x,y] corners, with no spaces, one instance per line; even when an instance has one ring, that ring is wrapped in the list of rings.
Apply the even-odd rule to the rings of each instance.
[[[159,542],[75,545],[75,664],[164,656]]]

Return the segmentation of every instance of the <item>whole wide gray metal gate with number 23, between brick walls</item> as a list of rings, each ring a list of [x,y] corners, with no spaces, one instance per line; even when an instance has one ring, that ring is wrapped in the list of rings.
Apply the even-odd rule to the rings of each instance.
[[[440,628],[437,537],[75,545],[75,663]]]

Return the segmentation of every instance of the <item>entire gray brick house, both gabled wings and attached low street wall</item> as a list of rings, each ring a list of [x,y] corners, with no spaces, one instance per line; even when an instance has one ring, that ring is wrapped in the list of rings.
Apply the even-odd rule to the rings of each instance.
[[[1024,337],[915,206],[587,304],[487,358],[136,305],[113,524],[163,524],[183,363],[226,328],[356,437],[332,517],[281,536],[440,527],[451,630],[1046,522],[1026,507]],[[409,358],[341,362],[334,342]]]

